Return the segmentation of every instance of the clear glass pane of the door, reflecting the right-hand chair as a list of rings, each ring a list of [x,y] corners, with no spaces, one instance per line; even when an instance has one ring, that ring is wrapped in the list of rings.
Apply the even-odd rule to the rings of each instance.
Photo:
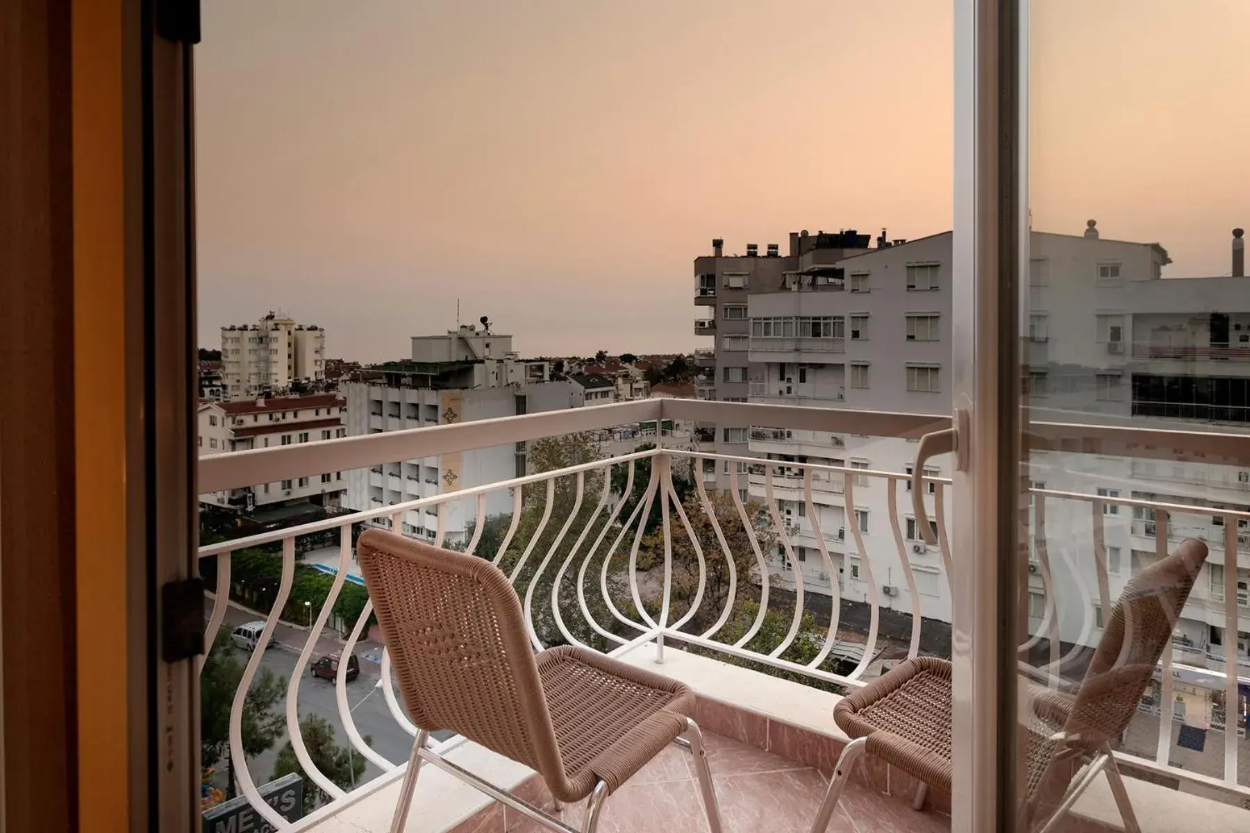
[[[1032,826],[1065,791],[1079,797],[1060,831],[1129,807],[1184,826],[1250,802],[1250,283],[1235,229],[1250,221],[1235,139],[1250,111],[1230,105],[1250,72],[1224,57],[1248,24],[1241,4],[1031,4],[1031,487],[1006,682]],[[1108,774],[1086,789],[1090,766]]]

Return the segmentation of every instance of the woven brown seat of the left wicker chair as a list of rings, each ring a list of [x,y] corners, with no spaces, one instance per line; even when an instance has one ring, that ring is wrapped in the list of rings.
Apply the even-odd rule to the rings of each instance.
[[[695,696],[684,684],[586,648],[562,646],[538,657],[571,793],[580,801],[599,781],[620,787],[686,731]]]

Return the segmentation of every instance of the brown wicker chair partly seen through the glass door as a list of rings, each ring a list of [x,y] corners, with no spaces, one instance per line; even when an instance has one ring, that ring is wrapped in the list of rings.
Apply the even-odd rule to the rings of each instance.
[[[1025,791],[1019,829],[1049,833],[1105,772],[1125,831],[1140,832],[1111,743],[1136,713],[1205,559],[1206,545],[1190,538],[1134,576],[1079,686],[1070,691],[1021,686],[1026,702],[1020,711],[1028,724],[1020,733]],[[950,662],[916,657],[900,663],[839,702],[834,722],[854,739],[838,759],[814,833],[829,826],[851,767],[864,753],[910,773],[926,788],[950,792]],[[918,808],[922,801],[924,789]]]

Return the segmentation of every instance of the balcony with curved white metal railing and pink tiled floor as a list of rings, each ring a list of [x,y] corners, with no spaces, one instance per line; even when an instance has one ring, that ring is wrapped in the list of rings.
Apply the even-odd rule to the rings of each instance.
[[[834,430],[894,437],[900,443],[902,437],[946,422],[920,415],[655,400],[206,457],[200,461],[199,485],[214,492],[320,471],[380,468],[392,461],[496,447],[510,451],[518,442],[528,442],[532,450],[548,437],[651,421],[659,425],[664,420],[766,425],[778,426],[776,431]],[[1044,438],[1061,436],[1065,430],[1054,423],[1034,423],[1031,428]],[[245,697],[249,686],[260,668],[269,668],[271,659],[279,657],[278,667],[284,668],[281,684],[291,706],[286,737],[296,757],[305,761],[305,771],[329,798],[305,818],[279,818],[261,794],[270,779],[271,762],[242,756],[242,729],[235,722],[230,741],[240,749],[236,756],[240,796],[276,829],[325,833],[389,829],[415,727],[396,694],[385,646],[371,638],[369,607],[359,604],[364,601],[364,588],[355,573],[352,532],[360,525],[399,531],[404,528],[404,518],[411,517],[409,513],[424,513],[428,528],[421,537],[435,545],[451,542],[465,528],[452,528],[456,518],[461,523],[476,518],[471,533],[452,543],[505,569],[521,598],[526,626],[536,644],[584,644],[639,667],[659,669],[695,689],[696,718],[709,734],[726,829],[754,829],[752,826],[802,829],[846,742],[830,717],[841,693],[862,687],[880,673],[884,662],[925,653],[931,638],[929,628],[949,631],[940,617],[934,619],[930,614],[931,587],[921,583],[922,577],[912,564],[939,582],[952,581],[959,562],[940,515],[942,506],[950,507],[951,487],[950,481],[932,477],[929,478],[932,490],[922,490],[924,500],[939,512],[938,545],[918,553],[916,545],[906,538],[905,521],[912,495],[905,490],[909,478],[904,472],[788,462],[784,467],[770,466],[768,475],[749,475],[748,483],[742,483],[744,478],[736,473],[741,462],[746,461],[676,447],[608,458],[591,455],[589,461],[579,457],[519,478],[459,482],[456,491],[394,506],[369,506],[350,516],[201,547],[200,561],[215,588],[205,633],[208,644],[219,633],[229,633],[238,623],[252,618],[265,622],[260,646],[276,639],[274,646],[246,654],[234,712],[249,708]],[[751,511],[760,511],[758,517],[746,515],[739,488],[724,495],[696,490],[685,503],[675,502],[675,471],[692,470],[700,472],[700,480],[714,483],[716,472],[726,465],[731,483],[739,488],[752,486],[750,501],[758,507]],[[751,461],[751,465],[761,463]],[[714,468],[705,471],[706,466]],[[762,495],[755,493],[756,480]],[[855,503],[856,495],[862,500],[875,493],[888,497],[891,511],[874,512],[871,518],[865,516],[862,522],[851,522],[845,530],[821,528],[819,513],[809,511],[808,537],[814,543],[802,545],[808,550],[800,566],[794,542],[798,531],[785,518],[780,501],[812,503],[821,493],[845,495],[846,503]],[[1104,518],[1099,507],[1108,502],[1105,498],[1040,490],[1035,495],[1048,505],[1076,506],[1095,530],[1094,540],[1099,540]],[[660,502],[664,511],[652,512]],[[1149,506],[1166,508],[1166,505]],[[1232,523],[1241,515],[1226,510],[1209,512],[1224,513]],[[649,530],[655,517],[661,518],[654,522],[660,526]],[[686,525],[699,517],[716,518],[718,530],[691,533],[704,536],[695,553],[685,536]],[[1034,523],[1036,533],[1045,537],[1044,513],[1035,513]],[[304,553],[298,564],[296,552],[314,537],[318,548]],[[842,582],[838,579],[839,566],[832,561],[838,553],[830,552],[831,545],[856,559],[854,566],[844,568]],[[279,567],[274,582],[266,584],[260,598],[251,599],[259,614],[228,604],[231,591],[244,581],[239,571],[231,577],[231,562],[245,551],[268,552]],[[1096,559],[1090,557],[1090,569]],[[291,592],[296,571],[302,581],[304,571],[314,562],[321,566],[321,572],[332,573],[334,579],[322,599],[305,607],[292,602]],[[1042,558],[1039,563],[1048,577],[1066,568],[1059,558],[1052,563]],[[772,577],[778,567],[785,571],[784,579]],[[688,581],[675,581],[675,573]],[[690,577],[698,581],[689,581]],[[349,589],[358,606],[339,621],[345,609],[340,602],[348,599]],[[839,603],[821,602],[829,598]],[[1109,603],[1110,599],[1102,599],[1104,606]],[[836,614],[842,609],[849,613],[839,621]],[[925,611],[924,638],[921,617],[915,614],[921,611]],[[1072,654],[1096,639],[1094,607],[1081,604],[1081,611],[1076,626],[1082,636],[1071,647],[1059,638],[1060,618],[1054,597],[1048,598],[1035,647],[1049,652],[1050,667],[1065,667]],[[338,626],[338,633],[328,631],[331,624]],[[346,681],[345,663],[339,666],[334,688],[326,688],[332,683],[310,677],[309,662],[331,651],[360,657],[360,678]],[[1168,652],[1161,668],[1162,696],[1168,702],[1172,662],[1174,654]],[[1235,676],[1208,669],[1202,673],[1204,679],[1214,681],[1209,686],[1225,696],[1231,689],[1236,696]],[[308,749],[296,721],[310,712],[338,727],[336,737],[362,756],[364,769],[352,783],[340,784],[315,768],[308,769],[311,763],[306,762]],[[1170,728],[1162,722],[1160,729],[1159,723],[1144,718],[1135,731],[1154,732],[1151,737],[1158,739],[1160,731]],[[496,783],[550,806],[541,783],[534,781],[526,767],[455,736],[444,734],[435,746],[466,769],[489,774]],[[1194,777],[1206,788],[1214,782],[1216,787],[1235,791],[1235,754],[1225,758],[1220,753],[1220,772],[1225,773],[1220,779],[1191,776],[1188,769],[1174,771],[1166,761],[1166,738],[1160,748],[1164,751],[1132,747],[1118,754],[1139,769],[1169,773],[1172,779]],[[608,803],[615,829],[654,831],[676,822],[679,798],[692,789],[689,771],[681,769],[682,766],[680,758],[661,756],[636,782],[622,787]],[[1231,774],[1224,769],[1228,766]],[[875,823],[881,817],[895,819],[902,829],[940,831],[949,824],[942,816],[949,811],[949,797],[930,794],[925,809],[918,812],[911,809],[919,789],[915,781],[884,763],[870,766],[866,773],[866,786],[852,784],[842,798],[839,809],[842,829],[852,829],[849,827],[852,823],[859,829],[878,829]],[[414,817],[421,818],[420,829],[450,831],[466,821],[480,824],[475,829],[501,829],[502,817],[511,813],[432,768],[429,773],[422,771],[416,791]],[[579,808],[570,808],[565,818],[576,824],[578,812]],[[496,814],[494,822],[491,813]]]

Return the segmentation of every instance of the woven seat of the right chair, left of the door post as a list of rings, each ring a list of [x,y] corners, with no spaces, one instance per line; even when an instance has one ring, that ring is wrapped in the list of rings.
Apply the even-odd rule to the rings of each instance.
[[[916,657],[834,708],[834,722],[866,752],[939,789],[950,791],[950,663]]]

